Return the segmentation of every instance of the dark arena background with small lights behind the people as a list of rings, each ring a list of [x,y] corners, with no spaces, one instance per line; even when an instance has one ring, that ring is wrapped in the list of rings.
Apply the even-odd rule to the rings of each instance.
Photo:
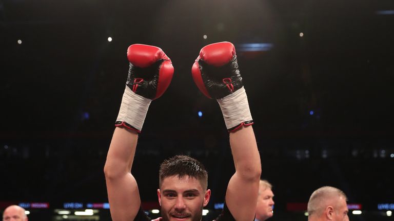
[[[324,185],[347,194],[350,220],[393,220],[392,0],[0,0],[0,213],[18,204],[30,221],[111,220],[103,168],[126,50],[144,43],[175,68],[137,145],[144,209],[160,215],[159,164],[184,153],[206,165],[203,219],[216,217],[234,166],[219,105],[190,70],[219,41],[237,50],[275,194],[269,220],[307,220]]]

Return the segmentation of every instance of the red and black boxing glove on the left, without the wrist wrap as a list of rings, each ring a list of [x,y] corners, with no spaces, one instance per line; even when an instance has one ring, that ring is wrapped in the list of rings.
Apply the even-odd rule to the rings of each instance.
[[[135,44],[127,49],[130,61],[126,85],[137,95],[151,100],[163,95],[170,85],[174,68],[162,49]]]

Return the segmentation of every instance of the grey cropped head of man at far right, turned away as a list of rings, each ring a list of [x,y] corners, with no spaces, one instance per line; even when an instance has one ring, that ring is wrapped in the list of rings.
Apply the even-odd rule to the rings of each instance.
[[[308,202],[308,220],[349,220],[345,193],[335,187],[315,190]]]

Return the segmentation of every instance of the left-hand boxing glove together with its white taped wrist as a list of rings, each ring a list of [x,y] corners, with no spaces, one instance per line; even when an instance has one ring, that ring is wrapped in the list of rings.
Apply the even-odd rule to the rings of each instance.
[[[141,132],[150,102],[159,98],[171,82],[174,68],[162,49],[148,45],[131,45],[126,89],[115,126]]]

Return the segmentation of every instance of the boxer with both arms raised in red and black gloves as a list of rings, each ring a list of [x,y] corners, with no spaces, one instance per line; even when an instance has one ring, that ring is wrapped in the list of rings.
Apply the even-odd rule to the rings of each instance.
[[[167,89],[173,67],[167,55],[153,46],[132,45],[127,57],[129,74],[104,172],[112,220],[148,221],[131,168],[149,104]],[[227,186],[223,212],[216,220],[253,221],[261,164],[232,43],[219,42],[201,49],[192,76],[204,95],[218,101],[230,131],[235,173]],[[156,192],[162,217],[157,220],[200,221],[211,195],[204,166],[188,156],[174,156],[161,164],[159,174]]]

